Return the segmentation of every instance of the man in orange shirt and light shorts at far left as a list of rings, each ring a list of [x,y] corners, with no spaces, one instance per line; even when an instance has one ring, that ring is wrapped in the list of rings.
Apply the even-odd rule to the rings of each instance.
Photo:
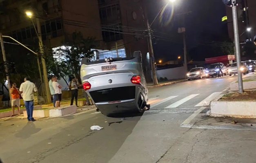
[[[12,98],[12,100],[11,100],[11,108],[12,108],[11,117],[13,117],[15,115],[15,113],[14,113],[15,106],[18,107],[18,115],[20,115],[20,90],[19,90],[19,88],[16,88],[16,83],[12,84],[11,98]]]

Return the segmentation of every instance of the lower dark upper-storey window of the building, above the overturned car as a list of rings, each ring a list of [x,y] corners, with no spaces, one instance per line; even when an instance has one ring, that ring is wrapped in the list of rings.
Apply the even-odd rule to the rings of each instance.
[[[123,39],[122,24],[113,24],[111,26],[102,27],[103,41],[111,42]]]

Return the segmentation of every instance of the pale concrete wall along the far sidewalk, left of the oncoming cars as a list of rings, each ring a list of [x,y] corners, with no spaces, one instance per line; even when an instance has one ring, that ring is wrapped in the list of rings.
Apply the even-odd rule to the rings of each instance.
[[[185,67],[176,67],[176,68],[168,68],[164,70],[156,71],[157,78],[167,77],[168,80],[171,79],[184,79],[186,77]]]

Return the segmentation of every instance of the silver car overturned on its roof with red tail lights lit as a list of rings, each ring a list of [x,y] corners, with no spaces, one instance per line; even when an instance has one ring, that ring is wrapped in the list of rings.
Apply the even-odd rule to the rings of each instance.
[[[140,51],[133,57],[81,61],[83,88],[102,114],[149,109]]]

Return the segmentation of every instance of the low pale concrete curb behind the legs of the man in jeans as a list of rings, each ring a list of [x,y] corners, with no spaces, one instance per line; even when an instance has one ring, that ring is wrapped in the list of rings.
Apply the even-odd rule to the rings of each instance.
[[[64,106],[49,110],[34,110],[33,117],[62,117],[64,115],[69,115],[75,112],[77,112],[77,107],[75,105]],[[27,111],[24,111],[23,115],[24,118],[27,118]]]

